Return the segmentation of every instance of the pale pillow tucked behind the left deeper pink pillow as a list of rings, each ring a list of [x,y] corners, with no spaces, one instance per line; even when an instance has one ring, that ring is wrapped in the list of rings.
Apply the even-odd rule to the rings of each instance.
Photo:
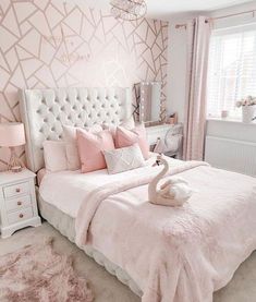
[[[81,168],[80,155],[76,143],[76,128],[72,125],[63,125],[63,138],[65,142],[65,155],[69,170],[78,170]],[[83,129],[84,130],[84,129]],[[85,128],[89,132],[102,131],[102,128],[95,124],[90,128]]]

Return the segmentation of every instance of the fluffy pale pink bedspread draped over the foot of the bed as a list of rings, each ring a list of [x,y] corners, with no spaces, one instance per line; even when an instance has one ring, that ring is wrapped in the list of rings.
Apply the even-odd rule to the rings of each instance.
[[[144,302],[208,302],[256,249],[256,179],[170,159],[196,193],[181,208],[147,202],[158,168],[96,186],[81,205],[76,243],[92,244],[135,280]]]

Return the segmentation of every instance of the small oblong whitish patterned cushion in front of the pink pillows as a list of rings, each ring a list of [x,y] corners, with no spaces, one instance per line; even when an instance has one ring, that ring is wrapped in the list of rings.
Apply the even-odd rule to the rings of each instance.
[[[138,144],[113,150],[103,150],[103,156],[109,174],[133,170],[145,164]]]

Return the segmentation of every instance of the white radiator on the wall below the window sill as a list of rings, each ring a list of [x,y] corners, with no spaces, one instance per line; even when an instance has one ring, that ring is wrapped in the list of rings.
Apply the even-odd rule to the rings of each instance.
[[[256,177],[256,143],[206,136],[205,160],[216,168]]]

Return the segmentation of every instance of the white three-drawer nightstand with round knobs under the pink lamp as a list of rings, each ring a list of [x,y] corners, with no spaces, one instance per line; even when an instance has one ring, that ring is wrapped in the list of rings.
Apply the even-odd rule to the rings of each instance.
[[[35,177],[32,171],[0,172],[0,231],[2,238],[10,237],[24,227],[38,227]]]

